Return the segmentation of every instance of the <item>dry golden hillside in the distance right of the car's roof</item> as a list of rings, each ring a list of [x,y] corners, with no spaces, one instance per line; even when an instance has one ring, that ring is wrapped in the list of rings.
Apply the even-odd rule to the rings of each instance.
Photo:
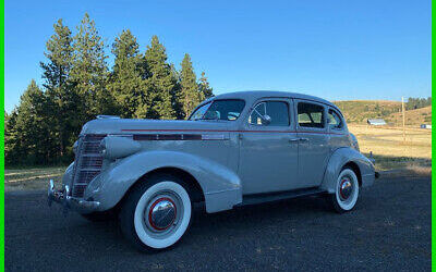
[[[367,119],[384,119],[393,126],[402,125],[401,102],[385,100],[334,101],[341,109],[348,123],[366,124]],[[432,107],[405,111],[405,124],[419,126],[431,123]]]

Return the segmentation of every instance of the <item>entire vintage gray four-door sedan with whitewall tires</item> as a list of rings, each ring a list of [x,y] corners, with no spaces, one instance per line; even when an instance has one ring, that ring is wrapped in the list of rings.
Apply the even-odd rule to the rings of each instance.
[[[240,91],[202,102],[187,121],[99,116],[83,126],[63,187],[49,203],[89,220],[119,215],[141,249],[164,249],[186,232],[194,202],[207,212],[324,194],[338,212],[373,184],[341,111],[324,99]]]

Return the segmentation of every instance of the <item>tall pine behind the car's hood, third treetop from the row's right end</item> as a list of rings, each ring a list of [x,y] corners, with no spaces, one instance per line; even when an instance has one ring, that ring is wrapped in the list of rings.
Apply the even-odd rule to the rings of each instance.
[[[152,45],[147,46],[145,61],[148,76],[145,82],[147,97],[142,98],[135,116],[175,119],[173,95],[177,78],[172,73],[171,65],[167,63],[166,49],[157,36],[153,36]]]

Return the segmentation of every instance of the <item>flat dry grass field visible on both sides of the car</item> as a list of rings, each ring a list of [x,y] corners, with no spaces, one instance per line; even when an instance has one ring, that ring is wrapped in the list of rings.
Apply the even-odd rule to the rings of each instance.
[[[393,174],[429,174],[432,171],[432,132],[408,128],[405,143],[401,128],[349,125],[366,156],[372,151],[377,171]],[[45,189],[47,181],[60,181],[66,166],[7,169],[5,190]]]

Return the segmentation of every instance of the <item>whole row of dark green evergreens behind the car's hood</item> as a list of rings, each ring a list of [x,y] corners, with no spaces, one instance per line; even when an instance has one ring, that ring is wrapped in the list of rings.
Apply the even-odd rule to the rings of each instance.
[[[75,35],[55,24],[40,62],[44,84],[32,79],[20,104],[5,120],[7,164],[49,164],[71,160],[72,146],[84,123],[97,114],[135,119],[185,119],[213,95],[202,72],[197,79],[190,54],[178,71],[168,62],[157,36],[144,53],[135,36],[123,30],[112,44],[112,69],[107,45],[85,14]]]

